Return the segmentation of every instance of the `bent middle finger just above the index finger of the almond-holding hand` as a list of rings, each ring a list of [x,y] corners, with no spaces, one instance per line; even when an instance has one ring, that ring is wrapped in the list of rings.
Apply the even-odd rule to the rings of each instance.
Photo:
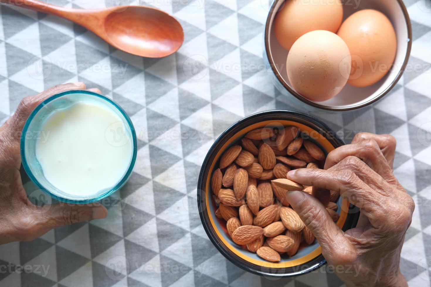
[[[326,157],[324,169],[328,170],[351,155],[359,157],[387,182],[394,182],[396,180],[377,142],[373,139],[366,139],[355,144],[343,145],[334,149]]]

